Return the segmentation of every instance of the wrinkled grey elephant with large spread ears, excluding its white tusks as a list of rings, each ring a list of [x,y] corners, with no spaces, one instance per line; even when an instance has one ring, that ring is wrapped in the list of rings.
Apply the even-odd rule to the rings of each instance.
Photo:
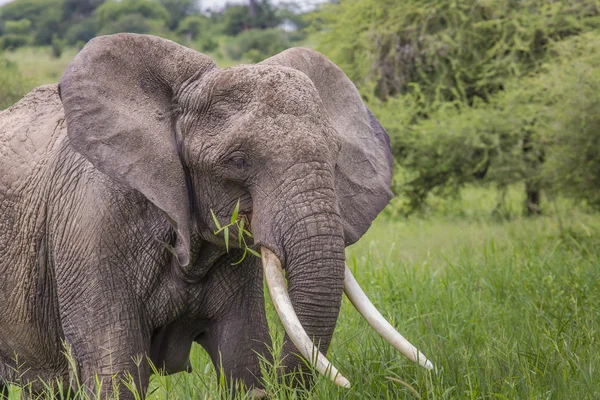
[[[130,372],[144,388],[136,357],[182,371],[196,341],[260,387],[260,260],[232,266],[241,250],[226,254],[210,217],[238,199],[325,353],[344,248],[389,201],[391,164],[387,134],[317,52],[218,69],[152,36],[92,40],[59,87],[0,114],[0,377],[69,382],[65,342],[80,381]],[[288,340],[290,370],[296,353]]]

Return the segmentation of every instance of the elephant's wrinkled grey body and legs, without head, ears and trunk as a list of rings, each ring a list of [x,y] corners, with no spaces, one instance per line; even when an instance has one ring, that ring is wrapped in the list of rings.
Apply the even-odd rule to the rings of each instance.
[[[65,345],[89,378],[147,374],[135,365],[140,355],[183,371],[194,340],[215,350],[227,335],[268,342],[262,293],[252,293],[262,287],[259,260],[234,267],[239,250],[202,243],[194,276],[183,276],[165,250],[167,218],[69,145],[57,85],[35,89],[1,119],[1,377],[69,382]],[[231,315],[242,312],[243,320]],[[250,329],[240,332],[242,323]],[[252,382],[258,370],[237,375]]]

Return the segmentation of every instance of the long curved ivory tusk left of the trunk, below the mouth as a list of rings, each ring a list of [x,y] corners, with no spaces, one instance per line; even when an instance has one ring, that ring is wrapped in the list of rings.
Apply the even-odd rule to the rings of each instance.
[[[349,388],[350,382],[321,354],[302,327],[288,295],[287,286],[283,279],[281,261],[279,261],[279,258],[271,250],[265,247],[261,247],[260,252],[262,254],[263,269],[271,300],[273,300],[277,315],[279,315],[279,319],[281,319],[281,323],[288,336],[292,339],[298,350],[300,350],[302,356],[309,360],[317,371],[331,378],[336,385]]]

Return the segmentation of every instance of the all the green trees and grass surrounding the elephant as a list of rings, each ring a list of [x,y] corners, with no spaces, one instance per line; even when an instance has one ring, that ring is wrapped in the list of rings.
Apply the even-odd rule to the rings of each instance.
[[[316,48],[358,86],[396,160],[396,199],[348,263],[438,370],[399,357],[345,303],[330,356],[352,390],[323,378],[287,387],[265,366],[269,393],[413,398],[409,385],[436,399],[599,398],[599,10],[600,0],[316,10],[248,0],[210,11],[195,0],[14,0],[0,7],[0,109],[57,82],[100,34],[160,35],[220,67]],[[192,364],[193,374],[155,376],[151,398],[225,396],[198,347]]]

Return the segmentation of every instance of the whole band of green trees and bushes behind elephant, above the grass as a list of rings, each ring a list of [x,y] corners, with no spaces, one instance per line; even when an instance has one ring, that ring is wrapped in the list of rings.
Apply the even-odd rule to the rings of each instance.
[[[50,46],[60,60],[96,35],[136,32],[230,65],[316,47],[390,133],[399,212],[465,185],[522,184],[523,212],[536,215],[556,196],[600,208],[599,1],[343,0],[306,11],[248,0],[201,12],[195,0],[14,0],[0,8],[0,49]],[[2,79],[15,76],[5,105],[46,83],[2,65]]]

